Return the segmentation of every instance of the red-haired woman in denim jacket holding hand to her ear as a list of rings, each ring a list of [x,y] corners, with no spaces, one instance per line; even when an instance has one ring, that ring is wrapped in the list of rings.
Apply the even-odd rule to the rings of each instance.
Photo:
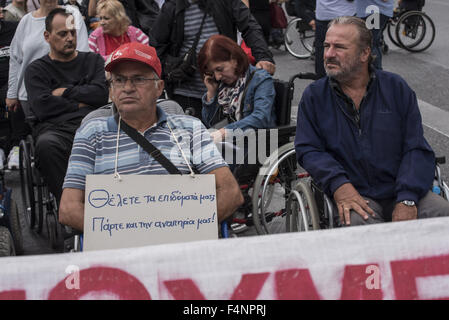
[[[211,136],[222,141],[232,130],[268,129],[276,126],[273,78],[249,64],[232,39],[214,35],[198,54],[198,67],[206,85],[202,119],[218,129]]]

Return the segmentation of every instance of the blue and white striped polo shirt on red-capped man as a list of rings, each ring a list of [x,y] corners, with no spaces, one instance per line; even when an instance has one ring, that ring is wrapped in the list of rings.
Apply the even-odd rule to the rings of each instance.
[[[209,132],[197,118],[166,114],[157,107],[158,121],[143,136],[169,159],[181,173],[189,174],[187,161],[198,173],[227,166]],[[178,144],[172,132],[178,140]],[[86,175],[114,174],[117,151],[117,122],[114,117],[94,118],[78,128],[63,188],[85,190]],[[120,130],[119,174],[168,174],[162,165]]]

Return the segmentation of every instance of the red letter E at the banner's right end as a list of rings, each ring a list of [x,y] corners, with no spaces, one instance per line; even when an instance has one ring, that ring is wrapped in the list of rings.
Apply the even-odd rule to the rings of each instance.
[[[416,300],[419,299],[416,278],[449,275],[449,256],[392,261],[391,272],[396,299]]]

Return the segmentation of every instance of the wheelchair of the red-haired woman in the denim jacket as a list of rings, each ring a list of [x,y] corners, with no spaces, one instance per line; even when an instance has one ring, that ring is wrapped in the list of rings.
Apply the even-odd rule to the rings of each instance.
[[[306,174],[297,163],[292,142],[296,124],[291,123],[291,102],[296,79],[315,80],[316,75],[300,73],[291,77],[288,82],[274,80],[277,148],[263,163],[245,163],[237,165],[233,170],[245,202],[222,224],[223,237],[238,236],[253,226],[259,235],[287,231],[287,200],[298,179]]]

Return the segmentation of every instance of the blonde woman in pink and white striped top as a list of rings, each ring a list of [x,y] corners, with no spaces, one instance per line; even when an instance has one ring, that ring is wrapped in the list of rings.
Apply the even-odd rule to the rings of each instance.
[[[97,6],[100,27],[89,36],[89,49],[99,53],[105,60],[122,44],[140,42],[148,44],[148,36],[130,25],[125,8],[117,0],[102,1]]]

